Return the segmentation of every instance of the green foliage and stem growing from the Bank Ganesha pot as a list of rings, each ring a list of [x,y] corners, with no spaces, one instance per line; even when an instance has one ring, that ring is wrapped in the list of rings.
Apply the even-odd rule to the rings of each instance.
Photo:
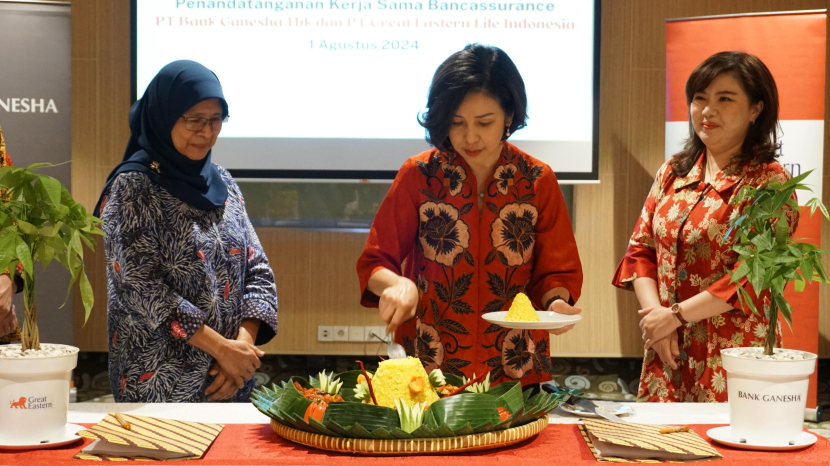
[[[742,215],[730,220],[724,235],[724,243],[735,235],[732,250],[738,254],[739,265],[731,275],[730,283],[737,284],[738,302],[767,322],[764,354],[772,355],[776,344],[778,312],[792,329],[793,309],[784,298],[784,289],[793,283],[795,291],[803,291],[807,283],[827,283],[827,275],[821,256],[828,250],[790,236],[788,218],[800,213],[798,202],[793,199],[796,190],[810,191],[802,184],[812,170],[791,178],[785,183],[769,182],[759,188],[744,186],[732,201],[735,205],[749,202]],[[806,203],[812,216],[816,209],[830,220],[827,208],[813,198]],[[746,278],[757,297],[769,290],[769,307],[762,315],[740,281]]]

